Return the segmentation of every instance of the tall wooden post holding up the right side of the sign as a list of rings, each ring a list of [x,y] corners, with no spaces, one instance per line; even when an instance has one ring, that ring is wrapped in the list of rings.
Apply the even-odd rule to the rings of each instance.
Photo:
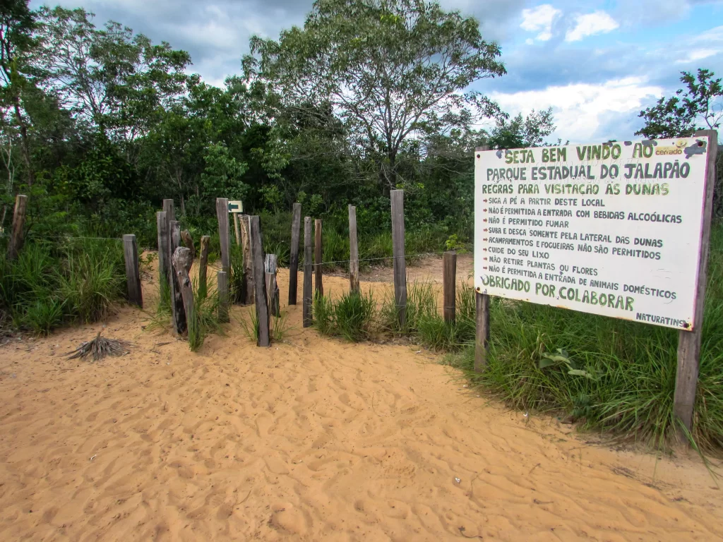
[[[718,132],[701,130],[697,138],[708,138],[706,154],[706,189],[701,223],[701,251],[698,254],[698,286],[696,288],[696,309],[693,315],[693,331],[679,332],[677,351],[677,373],[673,411],[685,429],[693,430],[693,410],[696,405],[698,387],[698,364],[701,360],[701,338],[703,336],[703,311],[705,309],[706,283],[708,280],[708,254],[711,241],[711,220],[713,216],[713,193],[716,184],[716,158]],[[688,442],[683,427],[677,429],[681,442]]]

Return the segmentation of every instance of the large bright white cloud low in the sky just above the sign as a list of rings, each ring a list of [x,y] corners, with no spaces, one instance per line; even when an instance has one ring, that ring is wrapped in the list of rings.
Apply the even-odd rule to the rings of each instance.
[[[607,133],[609,121],[613,118],[634,121],[645,103],[662,94],[662,87],[646,85],[641,77],[625,77],[599,85],[581,83],[512,94],[491,93],[489,98],[512,115],[552,107],[557,125],[554,137],[585,143],[632,137],[632,131],[621,130],[620,124],[616,128],[618,133]]]

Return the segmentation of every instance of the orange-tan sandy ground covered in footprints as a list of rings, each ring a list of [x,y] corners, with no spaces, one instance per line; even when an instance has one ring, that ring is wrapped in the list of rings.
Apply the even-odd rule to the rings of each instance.
[[[271,348],[232,319],[191,353],[128,308],[105,332],[137,345],[121,358],[61,355],[100,325],[0,348],[0,540],[723,540],[696,458],[585,444],[419,348],[330,340],[284,310]]]

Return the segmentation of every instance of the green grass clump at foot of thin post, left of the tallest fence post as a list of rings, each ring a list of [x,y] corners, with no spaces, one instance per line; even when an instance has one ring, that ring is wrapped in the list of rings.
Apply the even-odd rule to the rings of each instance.
[[[338,301],[330,296],[317,296],[314,322],[324,335],[359,343],[371,337],[376,309],[372,293],[344,293]]]

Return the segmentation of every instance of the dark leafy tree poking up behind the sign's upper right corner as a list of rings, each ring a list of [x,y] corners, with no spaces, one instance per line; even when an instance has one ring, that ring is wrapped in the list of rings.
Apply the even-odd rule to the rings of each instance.
[[[723,87],[721,79],[707,69],[698,69],[693,76],[681,72],[679,89],[672,98],[658,102],[640,112],[645,126],[636,132],[649,139],[690,136],[699,129],[718,129],[723,119]]]

